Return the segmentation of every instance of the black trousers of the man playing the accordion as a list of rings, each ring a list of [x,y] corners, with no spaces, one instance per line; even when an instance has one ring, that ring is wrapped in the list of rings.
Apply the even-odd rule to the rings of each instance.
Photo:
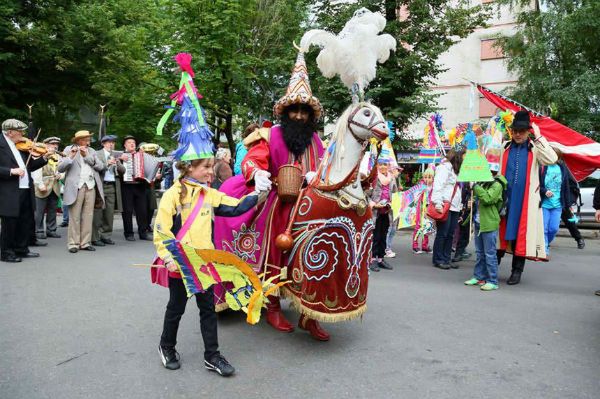
[[[138,234],[143,237],[148,228],[148,206],[146,185],[143,183],[121,184],[121,197],[123,200],[123,229],[125,237],[133,236],[133,211],[138,225]]]

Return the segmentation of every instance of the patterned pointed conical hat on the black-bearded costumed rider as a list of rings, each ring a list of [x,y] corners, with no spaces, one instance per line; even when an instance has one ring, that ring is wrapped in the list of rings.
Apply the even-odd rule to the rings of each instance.
[[[319,99],[312,95],[308,70],[304,61],[304,53],[299,52],[296,64],[292,70],[292,76],[285,95],[281,97],[273,107],[273,113],[277,116],[283,114],[283,110],[292,104],[306,104],[315,112],[315,119],[321,118],[323,107]]]

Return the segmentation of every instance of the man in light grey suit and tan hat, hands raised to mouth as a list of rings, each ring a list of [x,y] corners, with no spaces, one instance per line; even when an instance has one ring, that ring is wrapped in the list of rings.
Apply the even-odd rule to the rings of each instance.
[[[63,203],[69,206],[68,249],[95,251],[91,245],[94,207],[104,206],[104,191],[99,172],[106,168],[96,152],[89,147],[92,134],[80,130],[73,137],[73,145],[65,148],[65,157],[58,165],[65,172]],[[96,197],[98,195],[98,198]]]

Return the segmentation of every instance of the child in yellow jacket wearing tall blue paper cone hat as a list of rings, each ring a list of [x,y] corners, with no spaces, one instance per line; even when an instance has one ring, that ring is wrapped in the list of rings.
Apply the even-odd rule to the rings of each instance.
[[[157,134],[162,134],[162,129],[175,107],[181,106],[175,117],[175,120],[181,123],[176,135],[179,145],[172,154],[178,161],[176,167],[181,174],[177,182],[164,193],[154,226],[154,245],[158,257],[168,269],[168,281],[165,269],[153,269],[152,275],[153,282],[169,287],[169,303],[158,347],[163,366],[169,370],[177,370],[180,367],[179,353],[175,350],[175,345],[179,321],[185,312],[188,297],[179,269],[163,242],[164,235],[197,249],[214,249],[213,217],[239,216],[259,202],[258,192],[237,199],[208,187],[213,178],[215,163],[212,141],[214,135],[204,119],[204,111],[198,101],[192,79],[192,56],[179,53],[175,56],[175,61],[182,75],[179,91],[172,96],[173,102],[159,122]],[[235,369],[219,352],[213,286],[195,294],[195,297],[200,309],[204,365],[208,370],[216,371],[222,376],[230,376]]]

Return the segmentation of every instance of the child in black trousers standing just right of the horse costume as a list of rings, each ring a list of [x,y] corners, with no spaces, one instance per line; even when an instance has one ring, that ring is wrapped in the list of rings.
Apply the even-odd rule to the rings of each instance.
[[[396,179],[389,170],[389,160],[379,159],[377,162],[377,180],[371,194],[370,206],[375,218],[373,232],[373,263],[369,269],[378,272],[380,269],[392,270],[383,258],[385,256],[386,238],[392,220],[392,194],[398,191]]]

